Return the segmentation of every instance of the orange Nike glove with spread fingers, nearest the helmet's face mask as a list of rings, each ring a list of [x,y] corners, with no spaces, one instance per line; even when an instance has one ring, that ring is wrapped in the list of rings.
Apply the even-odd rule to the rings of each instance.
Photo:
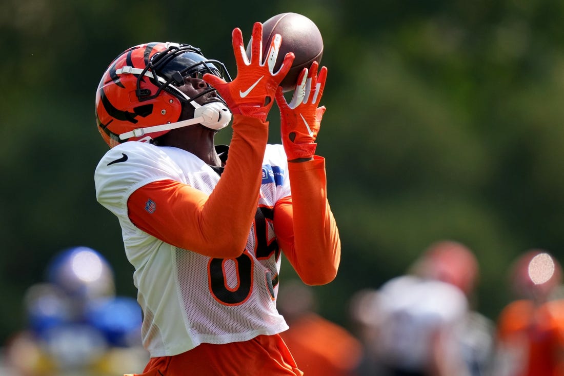
[[[233,29],[232,41],[237,64],[235,80],[226,82],[209,73],[202,78],[218,91],[232,113],[241,113],[266,121],[268,111],[274,103],[276,88],[292,66],[294,54],[286,54],[280,69],[273,72],[282,37],[276,34],[272,38],[268,55],[263,62],[262,24],[259,22],[253,25],[250,61],[243,46],[241,29]]]

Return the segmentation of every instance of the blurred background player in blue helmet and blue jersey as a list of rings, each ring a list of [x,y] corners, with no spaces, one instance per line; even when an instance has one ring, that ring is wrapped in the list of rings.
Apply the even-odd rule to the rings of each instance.
[[[116,296],[113,270],[98,251],[63,250],[46,272],[24,296],[27,327],[8,342],[14,376],[111,376],[147,362],[139,304]]]

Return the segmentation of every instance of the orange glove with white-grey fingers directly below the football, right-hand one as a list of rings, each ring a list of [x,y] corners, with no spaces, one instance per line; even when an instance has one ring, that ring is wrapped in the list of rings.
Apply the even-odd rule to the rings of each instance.
[[[321,67],[318,75],[318,66],[314,62],[309,71],[303,68],[290,103],[286,102],[282,88],[276,91],[282,145],[289,161],[309,160],[315,154],[315,138],[325,113],[325,106],[318,105],[327,79],[327,68]]]

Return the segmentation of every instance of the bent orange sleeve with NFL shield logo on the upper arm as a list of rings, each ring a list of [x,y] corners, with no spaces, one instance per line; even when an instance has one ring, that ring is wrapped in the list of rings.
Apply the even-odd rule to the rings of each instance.
[[[152,182],[129,197],[131,222],[166,243],[202,255],[241,255],[257,211],[268,123],[234,115],[232,128],[225,170],[209,196],[173,180]],[[145,209],[149,199],[152,213]]]

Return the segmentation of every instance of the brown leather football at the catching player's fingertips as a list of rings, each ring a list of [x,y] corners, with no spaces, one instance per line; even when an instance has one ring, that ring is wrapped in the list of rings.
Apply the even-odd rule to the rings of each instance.
[[[262,23],[263,57],[267,55],[270,42],[275,34],[282,36],[282,44],[274,72],[280,69],[287,53],[293,52],[295,55],[292,68],[280,84],[283,91],[287,92],[294,90],[299,73],[303,68],[309,68],[314,61],[321,62],[323,37],[314,21],[306,16],[292,12],[277,14]],[[247,45],[246,54],[250,56],[250,42]]]

